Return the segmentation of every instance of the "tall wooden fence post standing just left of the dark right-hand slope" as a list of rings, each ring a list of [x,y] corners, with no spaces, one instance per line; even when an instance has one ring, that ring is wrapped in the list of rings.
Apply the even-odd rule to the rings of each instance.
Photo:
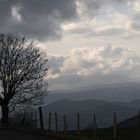
[[[117,115],[115,112],[113,115],[113,139],[117,139]]]

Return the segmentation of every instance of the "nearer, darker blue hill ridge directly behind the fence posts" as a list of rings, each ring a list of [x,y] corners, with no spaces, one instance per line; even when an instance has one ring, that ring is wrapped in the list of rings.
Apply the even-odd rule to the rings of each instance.
[[[69,129],[76,129],[76,114],[79,112],[81,128],[84,129],[92,123],[94,114],[96,114],[98,127],[109,127],[112,125],[114,112],[117,113],[118,123],[137,115],[140,107],[139,102],[138,100],[132,102],[108,102],[102,100],[71,101],[64,99],[44,106],[44,120],[45,124],[48,124],[49,112],[57,112],[58,126],[63,129],[63,114],[66,114]],[[54,115],[52,120],[54,122]],[[52,127],[54,127],[54,123]]]

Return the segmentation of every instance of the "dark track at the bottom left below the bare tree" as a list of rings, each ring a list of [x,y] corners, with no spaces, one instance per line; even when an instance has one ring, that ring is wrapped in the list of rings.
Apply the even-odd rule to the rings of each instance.
[[[0,140],[58,140],[19,130],[0,129]]]

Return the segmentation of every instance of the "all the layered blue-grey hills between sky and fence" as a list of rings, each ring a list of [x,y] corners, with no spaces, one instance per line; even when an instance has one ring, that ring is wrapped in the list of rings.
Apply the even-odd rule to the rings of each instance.
[[[49,112],[58,112],[59,129],[63,129],[63,114],[67,114],[69,129],[76,129],[76,113],[80,113],[81,128],[92,123],[96,114],[98,127],[112,125],[113,113],[117,122],[137,115],[140,109],[140,83],[119,83],[89,86],[78,89],[50,91],[45,98],[45,124]],[[52,118],[54,122],[54,115]],[[46,126],[47,127],[47,126]],[[52,123],[54,128],[54,123]]]

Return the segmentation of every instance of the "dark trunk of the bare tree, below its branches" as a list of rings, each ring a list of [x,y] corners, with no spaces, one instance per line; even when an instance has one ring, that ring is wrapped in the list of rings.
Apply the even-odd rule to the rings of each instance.
[[[5,126],[8,126],[9,125],[9,109],[8,109],[8,104],[3,104],[1,106],[2,108],[2,125],[5,127]]]

